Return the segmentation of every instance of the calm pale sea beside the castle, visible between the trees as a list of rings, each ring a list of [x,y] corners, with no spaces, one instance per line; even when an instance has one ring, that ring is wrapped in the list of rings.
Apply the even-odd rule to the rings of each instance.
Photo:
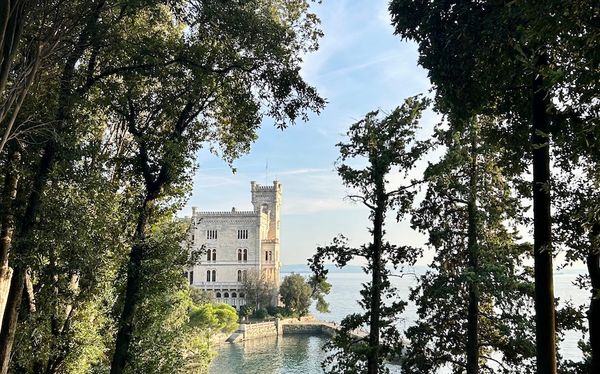
[[[566,300],[572,300],[574,304],[588,302],[588,293],[572,285],[577,274],[579,274],[578,270],[555,274],[555,293],[561,303]],[[282,273],[282,278],[285,275],[287,274]],[[330,304],[331,313],[321,314],[316,310],[312,310],[311,313],[321,320],[339,322],[347,314],[359,312],[360,308],[355,300],[360,297],[361,284],[367,280],[368,276],[364,273],[330,273],[329,282],[332,290],[327,301]],[[407,300],[409,288],[415,285],[415,277],[394,277],[391,281],[398,289],[399,296]],[[415,319],[415,306],[409,304],[402,319],[398,321],[398,326],[400,329],[404,329],[410,326]],[[560,345],[561,354],[574,360],[581,358],[581,352],[577,348],[579,338],[577,334],[565,336],[565,340]],[[325,352],[321,349],[324,343],[324,337],[288,335],[282,338],[265,338],[239,344],[226,344],[219,349],[211,373],[322,373],[320,362],[325,357]],[[391,367],[391,369],[394,373],[400,372],[397,367]]]

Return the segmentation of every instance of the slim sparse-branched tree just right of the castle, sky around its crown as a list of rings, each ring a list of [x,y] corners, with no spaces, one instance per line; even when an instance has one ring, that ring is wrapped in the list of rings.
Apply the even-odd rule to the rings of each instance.
[[[379,112],[370,112],[350,127],[348,142],[338,144],[338,174],[346,186],[357,191],[349,197],[369,209],[373,224],[369,231],[373,241],[351,248],[346,238],[338,237],[332,245],[317,248],[317,253],[309,260],[317,279],[327,274],[325,261],[334,260],[338,266],[344,266],[355,257],[367,261],[364,270],[371,275],[370,282],[364,284],[361,291],[360,305],[365,314],[344,318],[340,333],[328,344],[330,349],[340,350],[323,363],[324,368],[331,366],[331,372],[385,372],[385,361],[400,354],[401,339],[394,321],[406,303],[401,300],[386,302],[396,296],[386,265],[397,267],[413,263],[418,251],[386,242],[383,227],[389,209],[397,210],[398,218],[409,211],[416,182],[389,187],[388,178],[396,171],[407,178],[408,172],[427,150],[427,143],[415,141],[419,119],[427,103],[426,99],[411,97],[383,118],[379,117]],[[366,166],[356,168],[345,163],[358,160]],[[350,335],[352,330],[363,325],[369,328],[366,345]]]

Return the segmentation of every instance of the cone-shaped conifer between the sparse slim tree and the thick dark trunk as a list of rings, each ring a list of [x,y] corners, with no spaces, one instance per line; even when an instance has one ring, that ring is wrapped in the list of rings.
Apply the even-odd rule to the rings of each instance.
[[[533,284],[520,265],[530,246],[517,243],[522,208],[502,149],[485,132],[491,120],[436,129],[446,151],[427,167],[427,193],[412,217],[435,256],[411,292],[419,319],[406,332],[403,372],[531,370]]]

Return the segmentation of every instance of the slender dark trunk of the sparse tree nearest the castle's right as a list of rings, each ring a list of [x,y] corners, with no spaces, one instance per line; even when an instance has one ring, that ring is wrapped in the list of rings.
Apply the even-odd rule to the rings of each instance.
[[[367,354],[367,370],[369,374],[376,374],[379,370],[379,336],[381,314],[381,282],[383,264],[381,252],[383,246],[383,220],[386,208],[385,185],[383,174],[376,181],[376,205],[373,217],[373,275],[371,280],[371,316],[369,330],[369,351]]]

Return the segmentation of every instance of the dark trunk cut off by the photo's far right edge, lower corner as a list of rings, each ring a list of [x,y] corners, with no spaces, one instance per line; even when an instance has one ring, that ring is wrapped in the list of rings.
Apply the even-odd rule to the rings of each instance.
[[[592,226],[591,248],[587,267],[592,281],[592,297],[588,311],[590,348],[592,351],[590,374],[600,373],[600,223]]]

